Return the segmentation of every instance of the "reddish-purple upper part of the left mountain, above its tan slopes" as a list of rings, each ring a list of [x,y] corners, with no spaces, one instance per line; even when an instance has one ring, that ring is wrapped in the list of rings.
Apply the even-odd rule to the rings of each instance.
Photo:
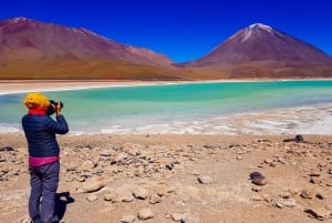
[[[84,28],[64,28],[27,18],[0,21],[4,59],[102,58],[146,64],[170,64],[166,55],[106,39]],[[18,51],[22,51],[20,54]],[[25,58],[24,51],[29,51]],[[6,53],[4,53],[6,52]]]

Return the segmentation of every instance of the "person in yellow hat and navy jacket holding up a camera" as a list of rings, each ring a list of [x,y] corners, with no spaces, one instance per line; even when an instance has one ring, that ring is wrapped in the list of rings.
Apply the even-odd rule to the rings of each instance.
[[[28,93],[23,103],[28,108],[22,126],[29,148],[29,215],[33,223],[58,222],[55,195],[60,148],[55,134],[69,132],[68,123],[61,114],[62,103],[51,103],[44,94],[38,92]],[[50,116],[50,109],[55,112],[56,121]]]

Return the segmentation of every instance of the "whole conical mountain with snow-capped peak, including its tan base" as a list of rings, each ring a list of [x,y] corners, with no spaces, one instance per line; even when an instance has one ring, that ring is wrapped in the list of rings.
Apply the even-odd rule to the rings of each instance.
[[[266,24],[245,28],[207,55],[179,64],[220,78],[332,77],[332,58]]]

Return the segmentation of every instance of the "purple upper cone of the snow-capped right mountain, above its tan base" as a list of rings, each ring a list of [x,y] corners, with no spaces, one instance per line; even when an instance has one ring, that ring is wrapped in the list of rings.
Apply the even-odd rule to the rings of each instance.
[[[318,48],[269,26],[255,23],[236,32],[207,55],[189,63],[237,64],[262,60],[287,64],[332,62],[332,58]]]

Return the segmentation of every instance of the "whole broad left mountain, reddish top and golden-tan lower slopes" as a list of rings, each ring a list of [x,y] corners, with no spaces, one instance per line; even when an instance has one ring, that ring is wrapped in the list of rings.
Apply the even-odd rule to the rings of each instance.
[[[0,21],[2,79],[173,79],[166,55],[83,28],[27,18]]]

